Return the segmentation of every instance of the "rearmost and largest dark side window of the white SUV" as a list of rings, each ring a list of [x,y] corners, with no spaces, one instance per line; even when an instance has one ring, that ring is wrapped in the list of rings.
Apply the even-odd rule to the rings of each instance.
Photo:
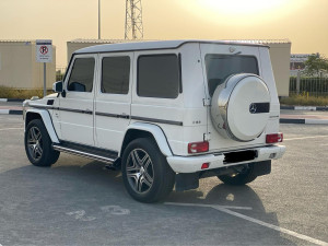
[[[137,93],[145,97],[176,98],[179,94],[178,57],[174,54],[140,56]]]

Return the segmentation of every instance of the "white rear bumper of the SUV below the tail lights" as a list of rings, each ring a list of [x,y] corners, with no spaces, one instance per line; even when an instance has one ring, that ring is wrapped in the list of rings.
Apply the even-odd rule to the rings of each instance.
[[[196,173],[201,169],[203,163],[209,163],[210,166],[207,169],[220,168],[225,166],[239,165],[251,162],[262,162],[267,160],[277,160],[282,157],[285,152],[284,145],[272,145],[254,148],[250,150],[257,151],[257,156],[251,161],[237,162],[226,164],[224,163],[224,154],[204,154],[198,156],[167,156],[167,163],[172,169],[176,173]]]

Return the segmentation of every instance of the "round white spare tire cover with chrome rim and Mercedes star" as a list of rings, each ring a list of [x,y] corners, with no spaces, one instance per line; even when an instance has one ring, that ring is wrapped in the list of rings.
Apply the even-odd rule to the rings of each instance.
[[[224,138],[251,141],[265,130],[270,98],[268,86],[260,77],[250,73],[231,75],[212,96],[212,122]]]

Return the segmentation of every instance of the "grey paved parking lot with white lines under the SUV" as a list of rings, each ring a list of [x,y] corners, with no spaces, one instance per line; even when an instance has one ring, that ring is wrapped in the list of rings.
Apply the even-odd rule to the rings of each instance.
[[[200,188],[143,204],[119,172],[61,154],[32,166],[21,116],[0,116],[0,245],[328,245],[328,126],[281,125],[288,148],[244,187]]]

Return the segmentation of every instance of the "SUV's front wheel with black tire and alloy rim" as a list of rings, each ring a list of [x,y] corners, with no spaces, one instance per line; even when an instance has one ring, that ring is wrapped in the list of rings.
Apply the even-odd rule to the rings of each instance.
[[[24,143],[26,155],[35,166],[51,166],[59,159],[60,152],[52,149],[51,139],[40,119],[28,122]]]

